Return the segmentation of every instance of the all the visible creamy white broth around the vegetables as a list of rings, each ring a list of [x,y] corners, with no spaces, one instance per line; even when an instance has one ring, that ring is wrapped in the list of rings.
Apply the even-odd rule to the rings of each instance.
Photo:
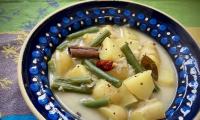
[[[118,31],[120,32],[120,31]],[[138,39],[141,44],[144,44],[146,41],[152,41],[152,39],[140,32],[132,30],[135,34],[138,35]],[[120,34],[120,33],[118,33]],[[168,56],[167,52],[156,43],[157,51],[160,57],[160,67],[159,67],[159,77],[158,77],[158,86],[160,87],[160,91],[158,93],[153,93],[152,98],[157,98],[162,103],[164,103],[165,110],[168,109],[170,104],[172,103],[177,86],[177,75],[175,71],[175,67],[172,64],[172,60]],[[165,74],[165,69],[169,69],[173,72],[172,75],[169,76],[168,79],[173,81],[172,85],[165,85],[165,83],[159,82],[160,76]],[[52,74],[50,74],[50,81],[52,81]],[[66,108],[69,109],[73,114],[77,113],[81,115],[81,119],[84,120],[106,120],[106,118],[96,109],[87,108],[80,104],[80,99],[91,97],[90,95],[73,93],[73,92],[54,92],[57,100]],[[134,109],[133,109],[134,110]]]

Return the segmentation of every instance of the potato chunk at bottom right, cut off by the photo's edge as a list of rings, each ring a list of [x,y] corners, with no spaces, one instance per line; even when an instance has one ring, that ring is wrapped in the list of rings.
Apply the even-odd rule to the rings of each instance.
[[[131,120],[158,120],[165,118],[162,102],[154,99],[131,113]]]

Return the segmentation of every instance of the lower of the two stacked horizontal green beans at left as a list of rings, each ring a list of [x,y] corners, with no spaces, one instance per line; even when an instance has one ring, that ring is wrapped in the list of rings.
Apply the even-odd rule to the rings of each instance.
[[[85,93],[85,94],[92,93],[92,87],[89,87],[87,85],[76,86],[66,83],[53,82],[51,88],[52,90],[59,90],[59,88],[62,88],[64,91],[71,91],[71,92]]]

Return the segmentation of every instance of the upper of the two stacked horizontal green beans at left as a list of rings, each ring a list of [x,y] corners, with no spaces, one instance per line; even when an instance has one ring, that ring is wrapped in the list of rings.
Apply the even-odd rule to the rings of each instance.
[[[72,85],[80,85],[80,84],[88,84],[92,82],[91,77],[77,77],[77,78],[64,78],[64,77],[56,77],[54,82],[60,82],[65,84]]]

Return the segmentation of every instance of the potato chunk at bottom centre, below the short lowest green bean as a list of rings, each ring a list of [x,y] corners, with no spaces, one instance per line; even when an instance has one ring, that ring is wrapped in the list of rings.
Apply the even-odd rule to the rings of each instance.
[[[118,105],[109,105],[108,107],[102,107],[99,110],[109,120],[127,120],[127,111]]]

